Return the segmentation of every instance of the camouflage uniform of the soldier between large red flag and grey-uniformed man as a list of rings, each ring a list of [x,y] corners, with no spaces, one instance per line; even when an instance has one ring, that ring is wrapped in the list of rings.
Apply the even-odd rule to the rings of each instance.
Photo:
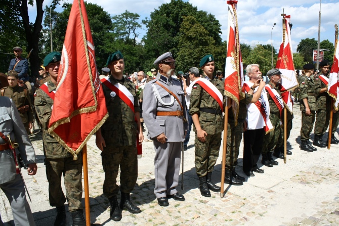
[[[123,78],[116,80],[109,75],[112,84],[119,82],[124,85],[134,96],[134,110],[140,112],[136,88],[132,81]],[[102,166],[105,171],[103,192],[107,198],[116,196],[119,186],[116,184],[116,177],[120,165],[120,191],[131,193],[138,178],[138,158],[136,136],[138,133],[132,109],[125,104],[118,96],[111,96],[111,89],[104,83],[102,87],[105,94],[106,106],[109,117],[101,127],[102,137],[106,147],[101,153]]]

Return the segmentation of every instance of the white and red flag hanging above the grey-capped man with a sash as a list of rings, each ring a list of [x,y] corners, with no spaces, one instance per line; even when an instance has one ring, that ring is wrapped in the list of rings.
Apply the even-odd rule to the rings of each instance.
[[[294,64],[293,64],[293,54],[291,47],[291,36],[288,23],[290,22],[290,16],[284,16],[282,19],[282,43],[280,45],[278,60],[275,68],[280,70],[281,74],[281,90],[283,93],[285,91],[290,91],[296,88],[299,84],[296,81]],[[287,105],[287,109],[292,112],[290,104],[287,102],[290,100],[289,95],[284,95],[283,100]]]

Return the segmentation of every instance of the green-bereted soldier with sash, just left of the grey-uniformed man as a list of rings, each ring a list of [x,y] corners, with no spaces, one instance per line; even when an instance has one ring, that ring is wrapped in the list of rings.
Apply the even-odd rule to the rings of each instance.
[[[121,210],[127,209],[131,213],[140,213],[139,207],[130,200],[138,178],[138,158],[136,138],[142,143],[144,135],[140,124],[140,108],[136,87],[134,83],[123,77],[124,61],[120,51],[111,54],[106,66],[111,70],[111,75],[101,80],[106,99],[109,117],[96,133],[96,144],[101,152],[102,166],[105,171],[103,185],[104,195],[111,204],[110,217],[119,221],[122,217]],[[118,96],[111,86],[122,85],[126,96],[133,98],[134,109]],[[119,88],[121,91],[121,89]],[[122,92],[122,91],[121,91]],[[132,100],[131,100],[132,101]],[[135,121],[137,120],[137,121]],[[120,166],[120,189],[116,184]],[[121,192],[120,205],[117,195]]]

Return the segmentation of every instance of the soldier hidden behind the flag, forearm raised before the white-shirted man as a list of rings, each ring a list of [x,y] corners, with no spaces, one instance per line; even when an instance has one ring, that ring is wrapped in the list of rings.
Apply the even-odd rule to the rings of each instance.
[[[245,98],[240,100],[238,123],[235,126],[233,108],[229,109],[227,124],[227,149],[226,149],[226,167],[225,167],[225,183],[230,185],[243,185],[245,178],[235,171],[235,163],[239,156],[240,142],[244,131],[244,121],[247,116],[247,104],[256,103],[260,98],[261,92],[266,82],[258,80],[253,84],[253,88],[258,88],[258,92],[253,95],[253,89],[249,89],[248,93],[244,93]]]

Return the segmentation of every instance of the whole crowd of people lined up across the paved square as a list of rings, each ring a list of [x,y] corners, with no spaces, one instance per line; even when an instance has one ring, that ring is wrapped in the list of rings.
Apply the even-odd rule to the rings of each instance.
[[[15,47],[13,51],[16,58],[11,61],[7,73],[9,86],[1,89],[3,97],[0,99],[0,117],[3,119],[0,121],[0,162],[1,167],[6,168],[0,179],[0,188],[11,203],[14,222],[16,225],[35,225],[19,172],[20,165],[28,170],[29,175],[34,175],[37,170],[34,150],[28,137],[33,126],[33,115],[36,114],[43,131],[49,201],[57,212],[54,225],[65,225],[66,201],[72,225],[86,225],[81,205],[81,152],[74,158],[47,132],[61,54],[52,52],[45,57],[39,70],[39,87],[32,98],[32,85],[27,82],[27,60],[21,58],[20,47]],[[109,117],[96,132],[96,145],[101,150],[105,173],[103,193],[109,200],[112,220],[119,221],[123,209],[135,214],[141,212],[130,198],[138,179],[136,141],[139,144],[144,139],[153,142],[154,194],[158,204],[168,206],[170,199],[185,201],[177,186],[181,151],[188,149],[192,126],[195,133],[194,163],[200,194],[211,197],[210,191],[220,192],[220,187],[212,182],[211,175],[219,157],[226,108],[229,109],[227,154],[223,166],[226,184],[241,186],[245,181],[235,170],[242,138],[242,169],[248,177],[264,173],[258,165],[260,156],[262,164],[268,167],[278,165],[273,156],[283,158],[284,133],[281,125],[284,123],[283,109],[286,106],[280,92],[282,73],[279,69],[270,70],[266,75],[268,81],[265,82],[260,65],[247,65],[239,108],[233,109],[231,99],[227,99],[224,93],[223,72],[215,73],[213,55],[201,58],[199,68],[202,74],[197,67],[192,67],[187,73],[179,71],[176,75],[176,60],[171,52],[159,56],[154,61],[155,68],[146,74],[143,71],[124,74],[124,56],[120,51],[112,53],[105,66],[101,69],[100,79]],[[319,75],[314,75],[313,64],[304,65],[302,75],[299,75],[299,71],[296,73],[300,86],[294,89],[290,99],[294,103],[300,102],[300,138],[301,150],[304,151],[313,152],[316,150],[313,146],[326,146],[323,135],[331,111],[331,97],[327,94],[329,67],[329,62],[324,60],[320,63]],[[116,85],[120,92],[114,92],[112,85]],[[127,103],[126,99],[133,105]],[[286,112],[288,139],[293,114],[289,110]],[[315,135],[311,144],[309,140],[314,122]],[[333,111],[332,130],[329,131],[331,144],[339,143],[334,136],[337,125],[338,113]],[[145,126],[148,129],[146,138],[143,134]],[[287,150],[287,154],[292,153]],[[119,168],[120,186],[117,185]],[[66,197],[61,187],[62,175]],[[117,199],[119,191],[120,202]]]

